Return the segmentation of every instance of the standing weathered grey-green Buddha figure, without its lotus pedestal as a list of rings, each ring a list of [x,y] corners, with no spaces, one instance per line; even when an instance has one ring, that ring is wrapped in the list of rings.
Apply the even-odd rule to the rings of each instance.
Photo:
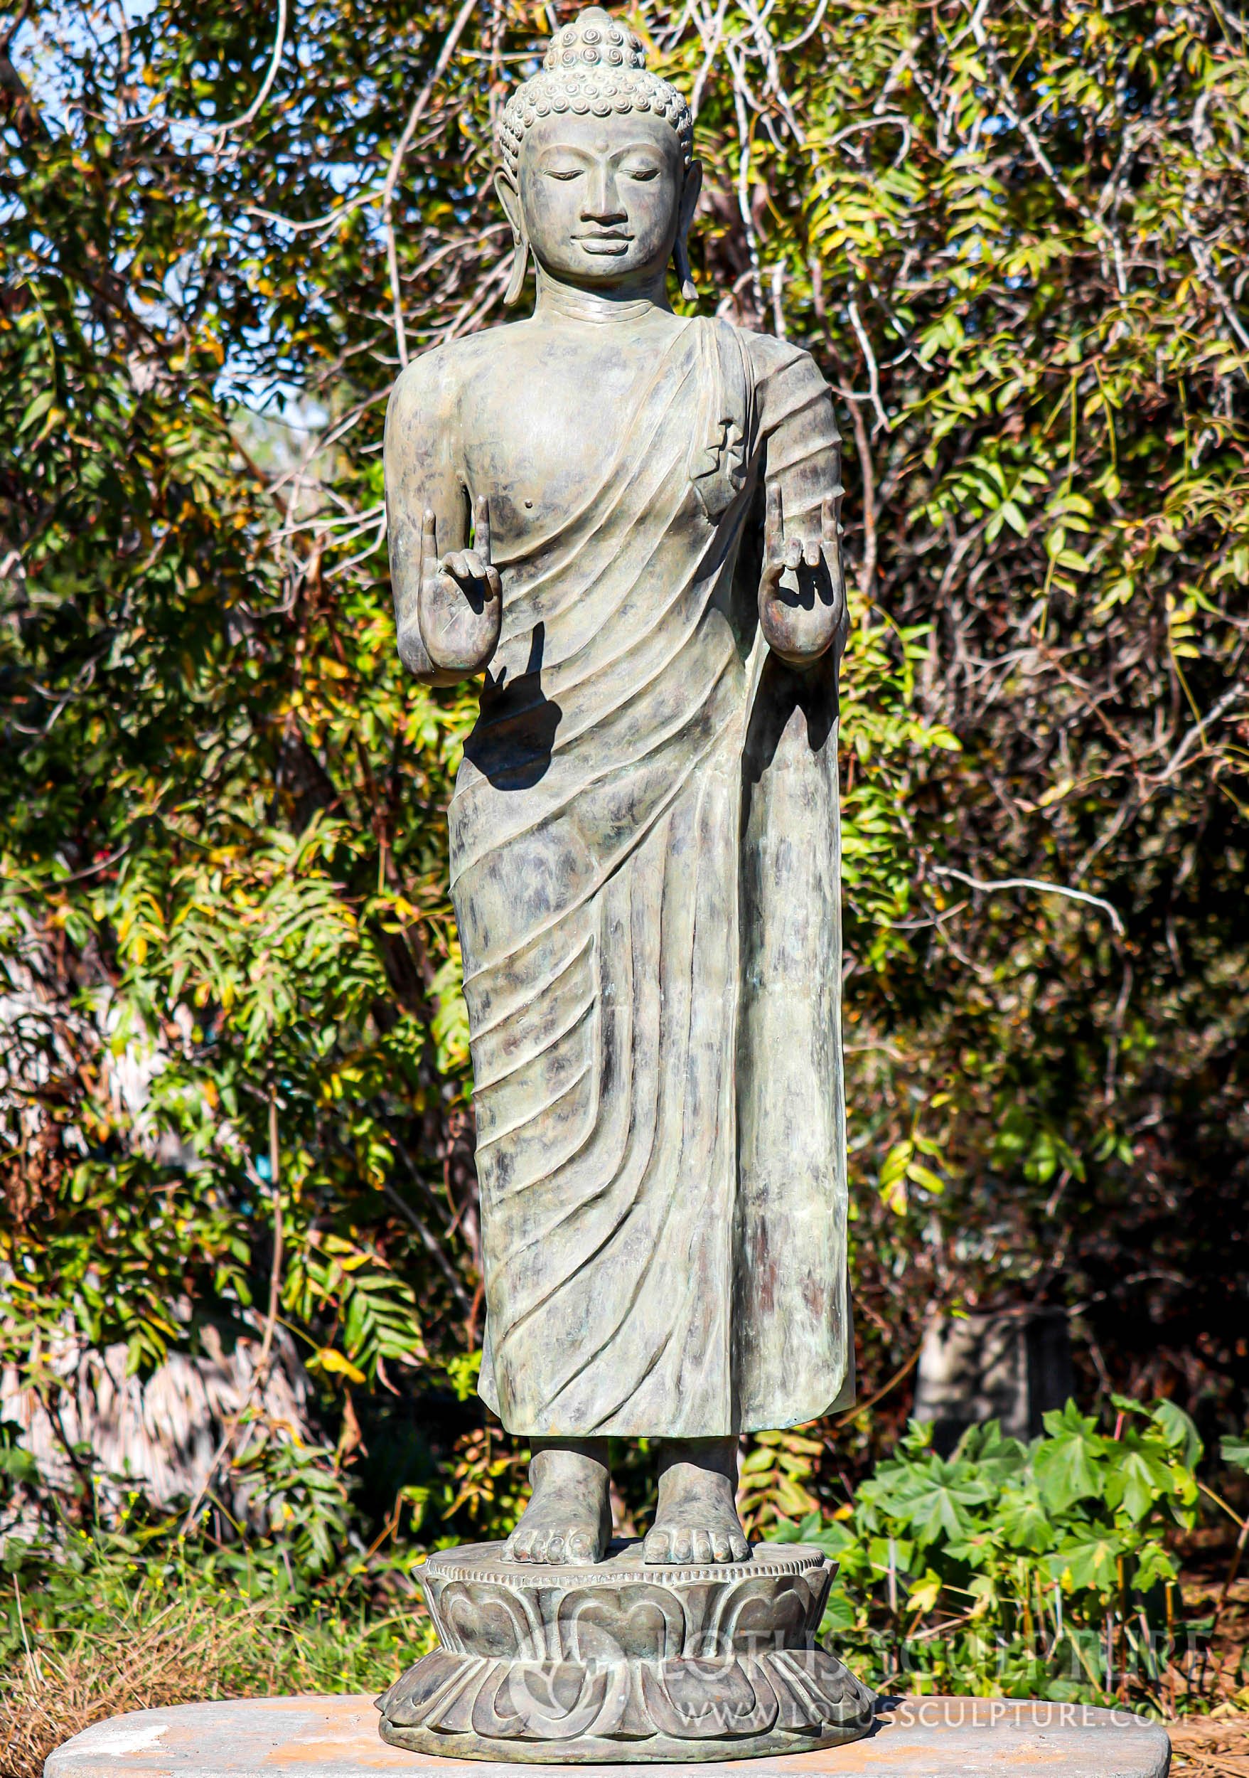
[[[689,306],[684,98],[599,7],[512,94],[537,302],[398,379],[398,647],[481,679],[449,807],[487,1323],[531,1442],[515,1563],[736,1563],[739,1435],[853,1394],[840,1061],[839,436],[810,356]]]

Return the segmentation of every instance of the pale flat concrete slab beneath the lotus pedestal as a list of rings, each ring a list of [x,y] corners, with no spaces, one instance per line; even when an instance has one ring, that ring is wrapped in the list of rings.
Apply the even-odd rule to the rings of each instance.
[[[448,1760],[387,1748],[370,1696],[242,1698],[135,1710],[57,1748],[44,1778],[567,1778],[567,1766]],[[812,1753],[725,1762],[732,1778],[1165,1778],[1171,1742],[1128,1710],[1000,1698],[885,1700],[865,1741]],[[661,1766],[673,1778],[714,1778],[720,1764]],[[640,1778],[638,1766],[597,1766]]]

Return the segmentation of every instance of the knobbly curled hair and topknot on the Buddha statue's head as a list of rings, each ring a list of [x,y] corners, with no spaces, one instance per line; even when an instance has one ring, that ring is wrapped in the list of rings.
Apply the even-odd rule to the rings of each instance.
[[[611,117],[640,112],[677,133],[680,158],[693,160],[695,121],[673,85],[647,68],[636,32],[602,7],[585,7],[551,39],[542,71],[508,100],[499,119],[499,160],[515,180],[526,130],[540,117]]]

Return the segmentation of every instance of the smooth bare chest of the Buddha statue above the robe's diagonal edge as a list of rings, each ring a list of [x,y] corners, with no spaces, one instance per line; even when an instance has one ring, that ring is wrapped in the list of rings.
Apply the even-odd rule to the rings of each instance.
[[[627,457],[656,357],[615,329],[599,350],[521,340],[473,379],[460,398],[460,448],[499,542],[560,525],[609,478]]]

